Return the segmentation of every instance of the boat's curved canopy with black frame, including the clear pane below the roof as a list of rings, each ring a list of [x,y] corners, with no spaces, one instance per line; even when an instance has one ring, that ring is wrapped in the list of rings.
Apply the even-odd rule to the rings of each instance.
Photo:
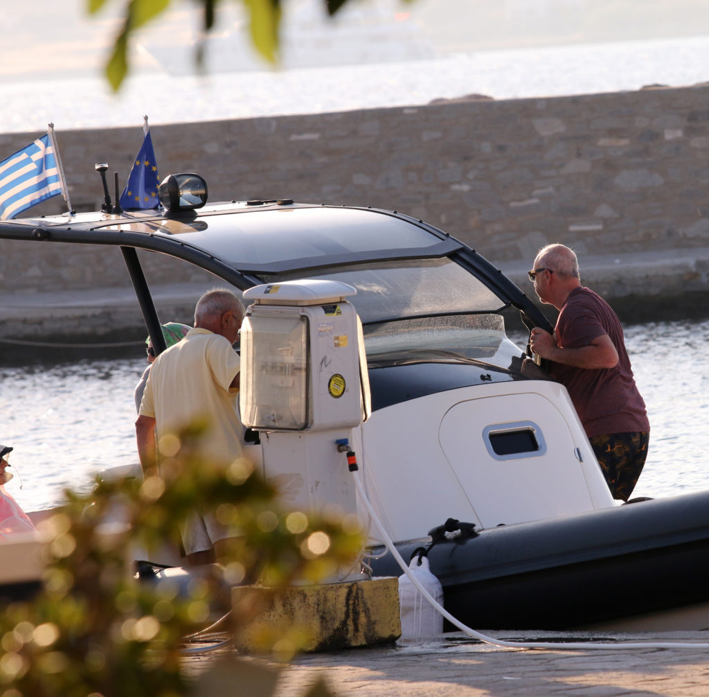
[[[136,249],[186,260],[240,290],[295,278],[347,282],[357,288],[354,304],[364,324],[510,306],[527,327],[548,324],[513,282],[464,243],[379,209],[284,199],[199,211],[96,212],[0,221],[0,238],[120,247],[151,337],[159,322]],[[160,336],[153,341],[162,348]]]

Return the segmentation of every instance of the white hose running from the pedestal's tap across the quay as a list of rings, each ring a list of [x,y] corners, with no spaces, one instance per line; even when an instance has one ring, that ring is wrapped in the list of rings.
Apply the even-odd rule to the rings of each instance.
[[[379,532],[381,532],[381,537],[384,540],[384,546],[386,549],[391,551],[396,563],[401,566],[401,569],[406,576],[411,580],[411,583],[418,589],[419,593],[428,600],[428,603],[435,608],[443,617],[445,617],[454,627],[458,627],[459,630],[465,632],[467,635],[474,637],[474,639],[485,642],[486,644],[492,644],[493,646],[503,647],[506,649],[604,649],[612,650],[616,649],[706,649],[709,647],[709,643],[703,644],[691,644],[686,642],[618,642],[617,644],[603,644],[601,642],[569,642],[569,643],[554,643],[554,642],[508,642],[501,639],[494,639],[493,637],[488,637],[476,630],[467,627],[462,622],[459,622],[453,617],[443,606],[431,596],[431,594],[421,585],[418,578],[416,578],[414,573],[411,573],[411,569],[408,568],[408,564],[401,558],[401,554],[398,553],[398,549],[394,547],[393,542],[384,526],[381,524],[379,517],[374,512],[372,504],[369,503],[367,494],[364,492],[364,485],[362,485],[362,479],[359,476],[359,470],[352,472],[354,475],[354,484],[357,486],[357,491],[359,492],[359,498],[364,503],[364,507],[367,508],[367,512],[372,517],[372,520],[376,523],[376,527],[379,527]]]

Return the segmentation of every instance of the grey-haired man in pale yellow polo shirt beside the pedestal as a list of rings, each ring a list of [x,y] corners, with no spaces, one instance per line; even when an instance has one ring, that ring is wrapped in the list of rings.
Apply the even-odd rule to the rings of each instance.
[[[155,359],[140,403],[135,432],[138,456],[147,473],[156,462],[156,436],[179,432],[206,420],[200,454],[230,463],[242,454],[243,428],[238,413],[238,339],[243,309],[230,290],[211,290],[197,302],[194,329]],[[228,531],[208,511],[194,513],[184,525],[182,544],[188,564],[206,564],[220,556]]]

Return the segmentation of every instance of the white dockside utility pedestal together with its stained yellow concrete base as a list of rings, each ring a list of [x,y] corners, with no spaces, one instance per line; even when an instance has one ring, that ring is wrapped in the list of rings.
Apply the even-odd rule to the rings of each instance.
[[[259,285],[244,292],[253,304],[241,325],[240,408],[259,432],[263,473],[296,510],[357,515],[357,487],[340,450],[371,411],[362,323],[347,297],[352,286],[331,280]],[[340,447],[338,449],[338,443]],[[233,589],[264,602],[264,623],[298,625],[306,650],[366,646],[401,635],[398,580],[362,573],[359,556],[316,585],[295,583],[283,596],[259,586]],[[250,633],[251,632],[251,633]],[[257,646],[259,623],[235,635]]]

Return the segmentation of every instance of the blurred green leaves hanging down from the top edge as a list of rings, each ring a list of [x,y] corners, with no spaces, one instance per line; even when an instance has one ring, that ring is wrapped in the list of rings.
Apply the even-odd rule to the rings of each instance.
[[[89,13],[98,12],[109,0],[88,0]],[[214,28],[215,13],[220,2],[227,0],[194,0],[195,11],[201,13],[201,26],[206,35]],[[254,48],[273,65],[278,62],[279,28],[281,7],[285,0],[230,0],[244,6],[249,16],[250,40]],[[333,16],[347,2],[357,0],[317,0],[328,16]],[[411,2],[412,0],[401,0]],[[120,89],[130,71],[129,43],[133,33],[154,20],[168,9],[170,0],[121,0],[125,6],[124,20],[113,43],[111,56],[106,64],[106,78],[114,91]],[[201,65],[201,48],[198,47],[196,63]],[[238,66],[235,66],[235,68]]]

